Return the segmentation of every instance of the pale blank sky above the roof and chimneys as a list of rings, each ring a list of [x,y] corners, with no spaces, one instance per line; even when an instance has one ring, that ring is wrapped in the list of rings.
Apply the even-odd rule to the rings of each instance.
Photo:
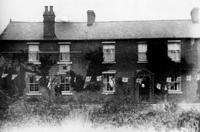
[[[96,21],[190,19],[200,0],[0,0],[0,32],[9,20],[42,21],[45,5],[53,5],[56,21],[86,21],[94,10]]]

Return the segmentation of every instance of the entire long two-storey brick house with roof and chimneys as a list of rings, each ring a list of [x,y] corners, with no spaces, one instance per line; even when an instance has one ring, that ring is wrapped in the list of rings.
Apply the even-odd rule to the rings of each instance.
[[[0,41],[1,85],[28,96],[74,96],[96,89],[112,96],[126,89],[136,102],[195,101],[200,87],[198,9],[188,20],[55,22],[10,21]],[[10,78],[10,79],[9,79]],[[9,81],[14,86],[8,86]]]

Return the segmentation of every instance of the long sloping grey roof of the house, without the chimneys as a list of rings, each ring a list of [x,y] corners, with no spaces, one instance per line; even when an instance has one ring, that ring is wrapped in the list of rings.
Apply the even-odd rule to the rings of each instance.
[[[56,22],[58,40],[200,38],[200,23],[191,20]],[[43,22],[11,21],[1,40],[43,40]]]

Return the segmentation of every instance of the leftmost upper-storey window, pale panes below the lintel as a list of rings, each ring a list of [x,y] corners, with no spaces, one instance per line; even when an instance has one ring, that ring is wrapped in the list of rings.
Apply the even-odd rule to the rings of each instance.
[[[28,61],[39,62],[39,45],[38,44],[28,45]]]

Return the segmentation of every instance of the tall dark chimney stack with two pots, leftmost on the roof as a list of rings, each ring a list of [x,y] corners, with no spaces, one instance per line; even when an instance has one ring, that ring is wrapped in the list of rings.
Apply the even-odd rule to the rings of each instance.
[[[53,39],[55,38],[55,14],[53,11],[53,6],[45,6],[43,13],[43,36],[44,38]]]

